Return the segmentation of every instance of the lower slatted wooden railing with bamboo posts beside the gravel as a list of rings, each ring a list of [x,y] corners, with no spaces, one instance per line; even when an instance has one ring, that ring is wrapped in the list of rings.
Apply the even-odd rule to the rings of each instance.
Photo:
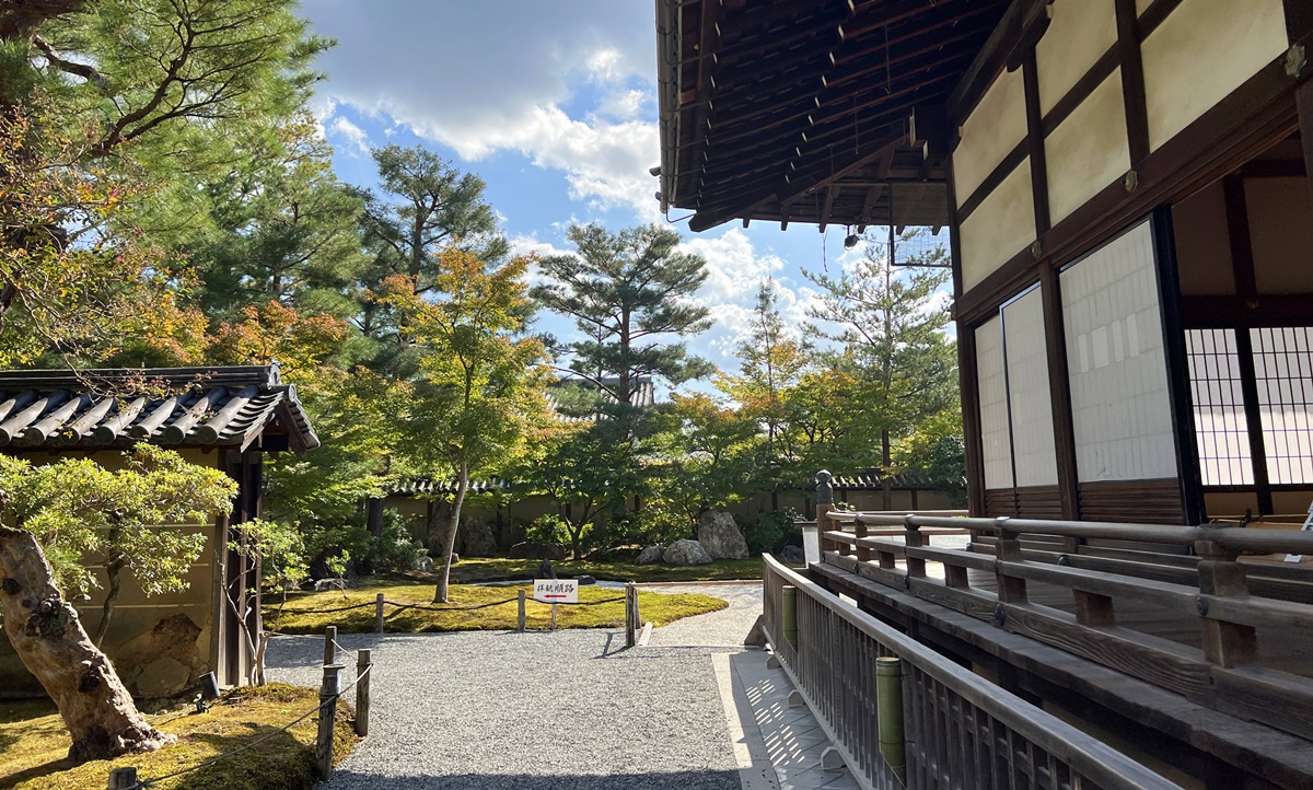
[[[793,642],[784,636],[786,585],[796,589]],[[903,753],[911,790],[1179,790],[771,556],[764,563],[763,596],[776,656],[865,787],[893,786],[880,756],[876,659],[894,656],[902,664]]]

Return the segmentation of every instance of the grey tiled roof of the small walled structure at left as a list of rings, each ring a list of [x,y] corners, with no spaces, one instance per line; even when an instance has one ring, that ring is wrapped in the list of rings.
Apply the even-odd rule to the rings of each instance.
[[[319,446],[277,365],[0,371],[0,447],[244,449],[273,425],[291,450]]]

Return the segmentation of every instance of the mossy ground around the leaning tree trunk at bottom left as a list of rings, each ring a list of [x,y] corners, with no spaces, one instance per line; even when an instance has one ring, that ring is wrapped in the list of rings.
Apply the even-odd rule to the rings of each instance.
[[[68,732],[51,702],[0,702],[0,790],[104,790],[110,769],[127,766],[137,768],[139,780],[161,777],[268,735],[316,705],[319,693],[301,686],[269,684],[234,689],[207,713],[147,717],[164,732],[176,735],[175,744],[148,755],[72,766],[64,760]],[[356,744],[351,715],[345,701],[339,701],[335,761],[343,760]],[[316,728],[311,715],[235,757],[152,789],[310,790]]]

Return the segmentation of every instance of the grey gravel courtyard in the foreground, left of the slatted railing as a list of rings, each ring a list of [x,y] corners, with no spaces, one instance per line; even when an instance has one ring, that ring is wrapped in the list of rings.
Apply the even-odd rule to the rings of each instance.
[[[374,651],[373,709],[324,790],[739,787],[710,650],[625,651],[605,630],[339,642]],[[322,638],[277,638],[270,680],[318,686],[322,660]]]

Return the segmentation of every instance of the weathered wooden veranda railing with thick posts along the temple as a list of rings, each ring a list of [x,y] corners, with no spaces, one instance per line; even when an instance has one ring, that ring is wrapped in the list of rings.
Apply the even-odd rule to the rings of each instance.
[[[1288,594],[1258,594],[1247,581],[1251,566],[1241,559],[1245,552],[1313,554],[1313,533],[865,513],[829,517],[851,531],[822,531],[826,563],[1200,705],[1313,739],[1313,678],[1264,667],[1259,642],[1260,634],[1266,639],[1313,640],[1313,605],[1288,600]],[[872,528],[901,528],[901,539],[871,537]],[[993,535],[994,555],[928,546],[926,533],[945,528]],[[1032,559],[1023,549],[1028,537],[1062,541],[1071,552],[1058,554],[1057,562]],[[1192,550],[1194,556],[1182,555],[1188,567],[1098,558],[1096,570],[1079,564],[1083,541],[1176,546],[1183,552]],[[943,563],[944,579],[927,576],[927,562]],[[989,589],[973,585],[969,571],[989,575]],[[1069,589],[1071,610],[1031,601],[1028,583]],[[1268,588],[1295,596],[1308,584],[1267,580]],[[1183,623],[1197,622],[1200,647],[1119,625],[1119,600],[1152,604]]]

